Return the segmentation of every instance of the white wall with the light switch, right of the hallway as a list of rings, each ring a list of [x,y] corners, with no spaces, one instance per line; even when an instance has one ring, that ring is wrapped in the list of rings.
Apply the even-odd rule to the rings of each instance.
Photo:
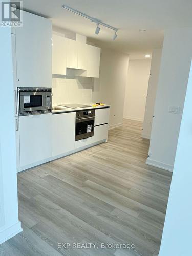
[[[159,72],[148,164],[173,170],[192,57],[192,28],[167,30]],[[180,114],[168,113],[179,106]]]

